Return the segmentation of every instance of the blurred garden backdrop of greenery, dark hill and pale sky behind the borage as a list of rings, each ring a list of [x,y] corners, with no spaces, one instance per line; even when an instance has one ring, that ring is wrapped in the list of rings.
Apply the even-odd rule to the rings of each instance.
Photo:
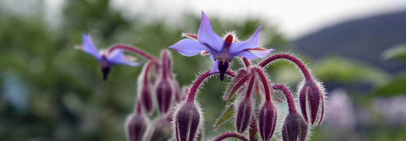
[[[309,63],[330,106],[312,141],[406,141],[405,7],[403,0],[2,0],[0,140],[125,141],[141,67],[116,65],[103,81],[96,59],[73,47],[89,33],[98,48],[126,43],[158,56],[182,32],[197,33],[203,10],[217,34],[234,30],[246,40],[262,25],[263,47]],[[181,86],[212,65],[171,52]],[[230,66],[240,67],[238,59]],[[267,73],[292,91],[301,81],[284,61]],[[199,94],[206,139],[218,134],[212,125],[226,104],[225,82],[212,78]]]

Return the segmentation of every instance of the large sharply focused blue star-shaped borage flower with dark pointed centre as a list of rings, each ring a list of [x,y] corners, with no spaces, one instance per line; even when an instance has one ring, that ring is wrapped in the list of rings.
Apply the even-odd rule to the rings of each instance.
[[[227,35],[225,39],[222,39],[214,33],[209,19],[202,11],[198,36],[184,34],[184,36],[191,37],[192,39],[183,39],[169,48],[175,49],[184,56],[193,56],[203,51],[209,53],[214,63],[210,73],[220,71],[220,80],[224,80],[225,71],[228,69],[229,63],[233,60],[234,56],[256,59],[258,57],[265,57],[273,51],[273,49],[258,48],[260,29],[261,26],[258,27],[247,41],[237,42],[235,35],[232,33]],[[249,50],[260,50],[261,52],[252,53]]]

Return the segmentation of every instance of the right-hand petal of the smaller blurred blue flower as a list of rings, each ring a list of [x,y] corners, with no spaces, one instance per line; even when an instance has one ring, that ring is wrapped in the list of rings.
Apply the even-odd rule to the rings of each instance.
[[[110,52],[107,56],[107,61],[109,63],[124,64],[133,67],[141,65],[141,63],[126,60],[124,58],[124,50],[120,49],[115,49],[112,52]]]

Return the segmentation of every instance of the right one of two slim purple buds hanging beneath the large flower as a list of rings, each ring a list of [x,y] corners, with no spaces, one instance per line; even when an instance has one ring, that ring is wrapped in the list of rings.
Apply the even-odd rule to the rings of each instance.
[[[257,115],[259,134],[263,141],[269,141],[274,134],[278,113],[272,102],[266,101]]]

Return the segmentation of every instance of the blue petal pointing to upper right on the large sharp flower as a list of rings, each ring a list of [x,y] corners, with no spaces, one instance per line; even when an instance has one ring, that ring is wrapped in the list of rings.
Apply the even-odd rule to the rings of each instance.
[[[259,30],[261,30],[261,26],[257,28],[255,33],[247,41],[231,43],[228,53],[235,54],[237,52],[240,52],[241,50],[245,50],[248,48],[256,48],[259,45]]]

